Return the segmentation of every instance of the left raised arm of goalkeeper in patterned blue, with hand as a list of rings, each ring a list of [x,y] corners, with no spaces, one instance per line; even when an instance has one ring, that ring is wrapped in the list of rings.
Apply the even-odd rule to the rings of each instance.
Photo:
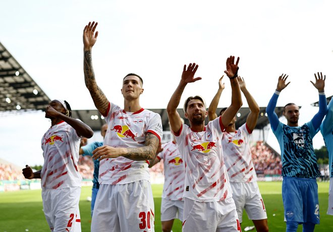
[[[276,86],[276,90],[273,94],[273,96],[271,97],[271,99],[268,102],[268,105],[266,107],[266,113],[267,113],[267,117],[268,117],[268,121],[270,123],[270,126],[272,128],[272,130],[276,130],[276,128],[278,128],[279,125],[279,117],[278,115],[276,115],[274,109],[276,107],[276,103],[278,102],[278,98],[279,95],[281,93],[281,91],[283,91],[289,84],[290,82],[288,82],[286,84],[288,75],[287,74],[283,74],[281,76],[279,76],[279,80],[278,80],[278,85]]]

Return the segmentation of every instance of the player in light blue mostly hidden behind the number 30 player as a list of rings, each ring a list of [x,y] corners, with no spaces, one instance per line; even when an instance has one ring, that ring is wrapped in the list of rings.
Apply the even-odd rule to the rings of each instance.
[[[100,134],[103,136],[103,138],[105,137],[106,131],[107,131],[107,124],[105,123],[100,128]],[[87,145],[81,146],[79,153],[82,154],[82,156],[92,157],[93,156],[92,151],[102,145],[103,142],[89,143]],[[92,180],[93,184],[91,190],[91,216],[94,211],[95,200],[99,189],[99,183],[98,183],[99,161],[93,159],[93,162],[94,162],[94,175],[93,175],[93,180]]]

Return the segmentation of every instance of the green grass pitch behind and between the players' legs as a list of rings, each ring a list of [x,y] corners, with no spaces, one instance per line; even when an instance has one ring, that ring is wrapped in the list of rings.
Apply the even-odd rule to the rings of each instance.
[[[264,200],[269,231],[280,232],[286,230],[281,196],[282,182],[259,182],[259,188]],[[162,185],[153,185],[155,202],[155,231],[161,231],[160,202]],[[315,231],[333,231],[333,216],[327,215],[328,182],[318,183],[320,224]],[[90,231],[90,202],[86,200],[91,195],[91,187],[83,187],[80,198],[80,213],[82,231]],[[274,215],[274,216],[273,216]],[[252,221],[243,215],[242,229],[252,225]],[[173,231],[181,231],[181,221],[175,220]],[[28,230],[26,230],[28,229]],[[24,190],[18,192],[0,193],[0,232],[38,232],[49,231],[41,202],[41,190]],[[299,226],[298,231],[302,231]]]

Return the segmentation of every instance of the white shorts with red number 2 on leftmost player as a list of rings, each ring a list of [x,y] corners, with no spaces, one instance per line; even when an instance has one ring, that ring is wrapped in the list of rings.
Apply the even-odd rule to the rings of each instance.
[[[79,210],[81,188],[43,189],[43,211],[53,232],[81,232]]]

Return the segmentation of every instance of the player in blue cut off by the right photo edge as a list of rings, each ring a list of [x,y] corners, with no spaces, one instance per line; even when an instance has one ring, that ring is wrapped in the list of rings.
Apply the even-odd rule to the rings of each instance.
[[[320,132],[324,138],[328,151],[329,166],[329,192],[328,192],[328,209],[327,214],[333,215],[333,100],[328,104],[327,114],[320,125]]]

